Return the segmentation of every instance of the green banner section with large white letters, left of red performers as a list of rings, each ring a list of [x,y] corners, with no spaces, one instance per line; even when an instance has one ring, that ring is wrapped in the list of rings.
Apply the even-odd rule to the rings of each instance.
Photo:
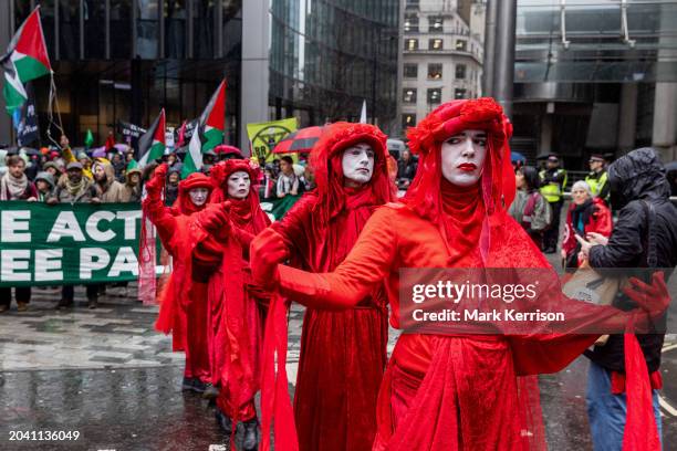
[[[138,203],[0,202],[0,287],[136,280]]]

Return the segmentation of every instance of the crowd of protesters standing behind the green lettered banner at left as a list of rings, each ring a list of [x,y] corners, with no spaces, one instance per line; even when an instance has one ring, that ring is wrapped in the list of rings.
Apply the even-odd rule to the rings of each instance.
[[[137,166],[134,149],[112,147],[105,157],[71,148],[66,136],[60,139],[61,149],[42,148],[38,154],[27,148],[0,149],[0,200],[56,203],[140,202],[144,174]],[[217,146],[204,156],[202,171],[208,174],[219,160],[243,158],[233,146]],[[183,162],[176,154],[164,157],[169,170],[166,178],[165,203],[173,206],[178,197]],[[264,179],[262,199],[280,199],[287,195],[301,196],[313,188],[312,175],[303,157],[294,161],[289,156],[261,161]],[[124,284],[124,283],[123,283]],[[126,284],[124,284],[126,285]],[[18,311],[25,312],[31,298],[30,287],[15,287]],[[104,285],[85,285],[90,308],[96,308]],[[74,287],[62,287],[58,308],[73,305]],[[12,289],[0,289],[0,313],[9,310]]]

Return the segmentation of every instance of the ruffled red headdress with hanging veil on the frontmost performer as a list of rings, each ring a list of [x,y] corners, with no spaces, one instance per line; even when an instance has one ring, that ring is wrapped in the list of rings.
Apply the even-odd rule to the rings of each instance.
[[[447,102],[407,132],[409,147],[418,155],[418,171],[404,201],[434,222],[441,212],[441,145],[466,129],[486,130],[488,135],[481,177],[487,213],[507,209],[514,198],[514,172],[508,145],[512,125],[501,106],[490,97]]]

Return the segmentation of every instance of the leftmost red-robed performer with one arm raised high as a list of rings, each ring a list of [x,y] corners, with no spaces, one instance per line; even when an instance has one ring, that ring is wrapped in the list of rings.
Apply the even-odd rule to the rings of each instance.
[[[147,197],[142,207],[156,227],[163,245],[173,259],[169,281],[160,293],[160,311],[155,327],[171,333],[174,350],[186,352],[181,388],[204,392],[211,385],[207,354],[207,285],[192,277],[192,250],[205,235],[195,226],[192,213],[207,204],[212,182],[204,174],[191,174],[181,180],[174,207],[165,207],[163,189],[167,165],[155,169],[146,183]]]

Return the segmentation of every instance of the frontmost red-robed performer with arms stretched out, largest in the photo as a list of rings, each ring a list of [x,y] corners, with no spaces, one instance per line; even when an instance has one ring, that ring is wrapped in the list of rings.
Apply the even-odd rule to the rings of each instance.
[[[514,195],[509,135],[510,125],[493,99],[441,105],[409,133],[419,166],[404,204],[374,212],[334,272],[311,274],[277,264],[287,258],[284,240],[267,230],[251,245],[254,279],[270,281],[284,295],[313,308],[352,308],[385,280],[390,324],[398,327],[402,268],[549,269],[506,211]],[[634,313],[645,322],[669,302],[660,276],[654,282],[658,290],[653,293],[659,293],[655,300],[642,298],[652,287],[640,282],[631,291],[649,311],[649,315]],[[598,313],[595,324],[622,329],[627,319],[626,313],[613,307],[564,301],[575,303],[577,311]],[[527,417],[521,415],[524,397],[518,396],[518,376],[558,371],[597,336],[403,334],[381,386],[373,449],[523,450],[543,445],[522,422]],[[640,350],[636,342],[633,346],[637,357]],[[637,371],[636,377],[647,379],[648,375]],[[650,395],[646,394],[635,401],[642,405],[643,418],[650,419]],[[643,428],[635,421],[629,428],[632,439],[649,443],[652,432]]]

